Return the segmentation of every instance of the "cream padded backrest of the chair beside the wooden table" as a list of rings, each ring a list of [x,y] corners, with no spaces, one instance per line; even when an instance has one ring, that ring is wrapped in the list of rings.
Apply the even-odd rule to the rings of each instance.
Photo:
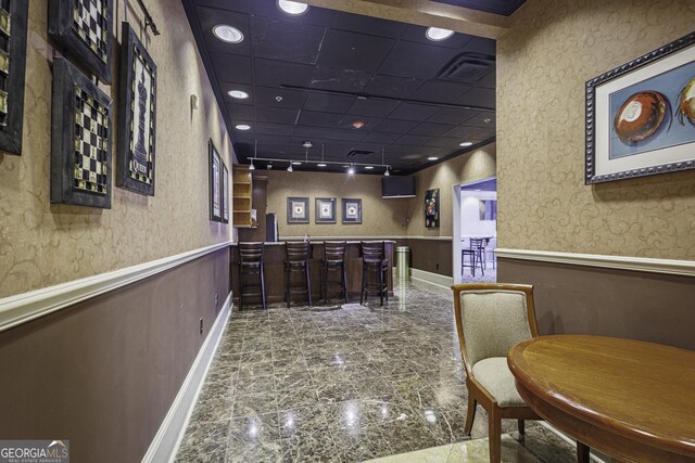
[[[457,284],[452,290],[458,339],[469,374],[480,360],[507,357],[511,346],[539,335],[533,286]]]

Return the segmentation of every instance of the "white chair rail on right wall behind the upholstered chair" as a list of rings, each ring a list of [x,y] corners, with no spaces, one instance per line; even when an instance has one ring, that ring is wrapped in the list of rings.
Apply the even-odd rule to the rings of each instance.
[[[605,256],[601,254],[555,253],[551,250],[495,249],[495,255],[508,259],[602,267],[637,272],[695,276],[695,261],[653,259],[647,257]]]

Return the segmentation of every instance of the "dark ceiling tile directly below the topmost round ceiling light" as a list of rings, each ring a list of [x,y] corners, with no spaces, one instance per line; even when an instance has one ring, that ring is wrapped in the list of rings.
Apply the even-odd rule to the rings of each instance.
[[[252,24],[254,56],[316,64],[324,27],[262,16],[253,16]]]

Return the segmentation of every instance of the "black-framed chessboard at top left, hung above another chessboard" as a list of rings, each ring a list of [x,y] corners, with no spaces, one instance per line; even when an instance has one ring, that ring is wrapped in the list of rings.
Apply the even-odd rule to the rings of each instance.
[[[48,33],[99,79],[111,85],[115,0],[49,0]]]

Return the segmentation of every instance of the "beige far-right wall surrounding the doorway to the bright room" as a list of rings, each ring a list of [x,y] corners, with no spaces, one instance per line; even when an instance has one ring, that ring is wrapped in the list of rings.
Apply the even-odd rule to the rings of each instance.
[[[410,236],[448,236],[452,227],[452,188],[455,184],[468,183],[495,176],[496,145],[491,143],[481,149],[466,153],[445,163],[438,164],[415,175],[417,197],[408,203],[408,235]],[[427,190],[439,189],[440,192],[440,227],[425,227],[425,195]]]

